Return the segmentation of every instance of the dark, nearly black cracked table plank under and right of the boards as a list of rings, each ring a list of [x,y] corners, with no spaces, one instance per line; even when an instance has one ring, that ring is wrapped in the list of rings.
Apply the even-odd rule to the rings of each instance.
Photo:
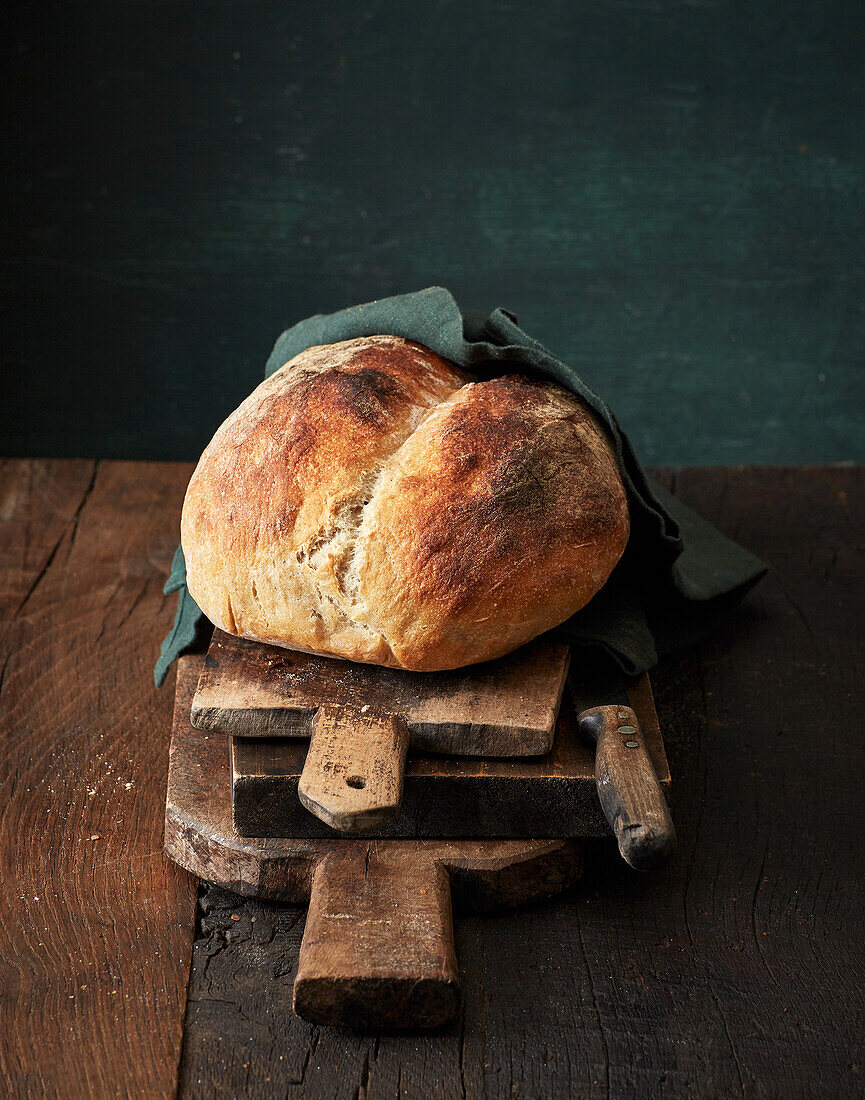
[[[654,678],[670,864],[637,875],[592,843],[577,891],[458,919],[463,1014],[423,1041],[293,1019],[303,912],[206,890],[183,1094],[861,1094],[865,475],[665,481],[771,565]]]

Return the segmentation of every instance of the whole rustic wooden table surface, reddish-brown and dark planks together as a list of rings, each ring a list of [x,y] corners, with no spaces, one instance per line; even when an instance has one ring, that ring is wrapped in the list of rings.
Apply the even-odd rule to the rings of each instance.
[[[0,1092],[862,1096],[862,470],[664,481],[771,565],[655,684],[679,849],[589,846],[552,903],[457,923],[458,1026],[292,1015],[304,913],[162,856],[173,679],[152,666],[190,468],[0,471]]]

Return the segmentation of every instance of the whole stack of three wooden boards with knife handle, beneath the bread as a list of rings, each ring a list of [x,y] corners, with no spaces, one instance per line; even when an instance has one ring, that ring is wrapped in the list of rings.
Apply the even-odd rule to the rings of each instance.
[[[451,904],[554,894],[580,839],[649,869],[675,843],[647,676],[571,670],[541,638],[413,673],[216,630],[182,658],[165,847],[240,893],[308,903],[296,1011],[436,1027],[460,1003]]]

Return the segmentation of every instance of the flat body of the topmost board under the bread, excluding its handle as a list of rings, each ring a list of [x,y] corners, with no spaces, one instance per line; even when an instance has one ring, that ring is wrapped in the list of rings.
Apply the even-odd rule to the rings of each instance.
[[[535,756],[552,745],[570,654],[541,638],[453,672],[405,672],[316,657],[215,630],[193,725],[240,737],[309,737],[320,706],[399,715],[412,747]]]

